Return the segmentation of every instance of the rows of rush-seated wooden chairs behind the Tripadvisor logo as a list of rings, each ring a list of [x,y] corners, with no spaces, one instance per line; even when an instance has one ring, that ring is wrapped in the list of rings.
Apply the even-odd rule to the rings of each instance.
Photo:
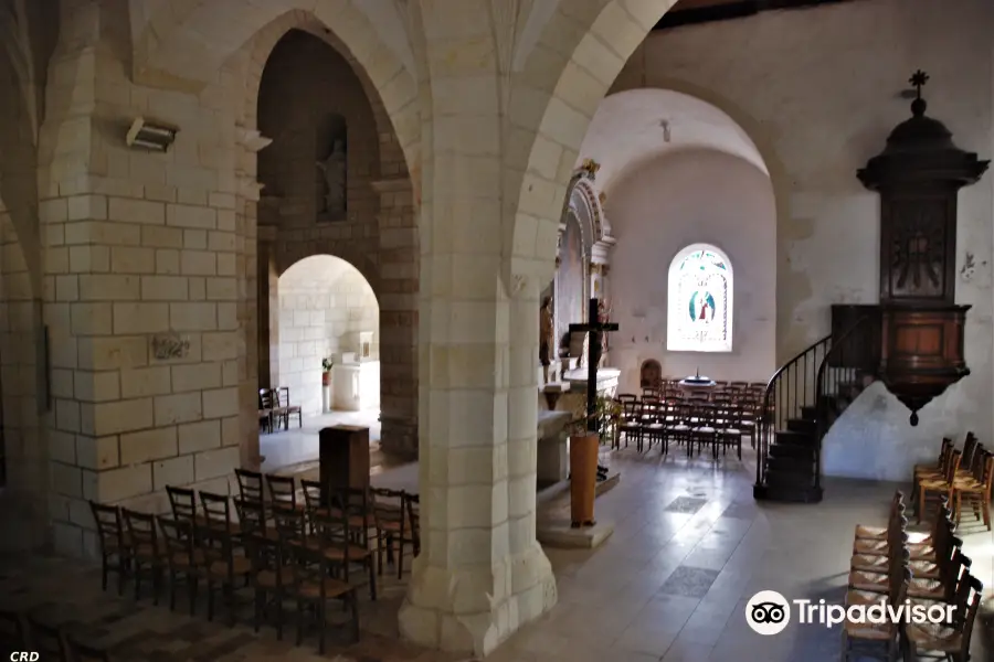
[[[896,492],[886,526],[858,525],[853,543],[846,609],[886,602],[953,607],[941,623],[855,622],[843,628],[843,660],[869,652],[896,661],[901,651],[938,655],[951,662],[970,659],[970,640],[983,595],[983,584],[970,573],[971,559],[955,536],[955,523],[944,501],[929,533],[910,533],[905,498]],[[906,606],[907,608],[907,606]],[[947,613],[949,613],[947,609]],[[876,650],[875,650],[876,649]],[[918,659],[918,658],[916,658]]]

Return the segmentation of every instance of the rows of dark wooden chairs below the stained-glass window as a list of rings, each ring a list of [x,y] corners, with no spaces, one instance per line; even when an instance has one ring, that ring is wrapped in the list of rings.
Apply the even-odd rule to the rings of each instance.
[[[647,452],[659,442],[666,455],[669,442],[676,441],[686,445],[688,456],[694,455],[695,446],[698,455],[702,448],[710,448],[713,458],[718,457],[719,450],[727,452],[732,447],[741,460],[742,437],[752,436],[755,428],[754,410],[734,403],[663,401],[646,396],[642,399],[620,397],[618,405],[621,414],[614,447],[620,448],[624,437],[625,447],[634,439],[639,452]]]

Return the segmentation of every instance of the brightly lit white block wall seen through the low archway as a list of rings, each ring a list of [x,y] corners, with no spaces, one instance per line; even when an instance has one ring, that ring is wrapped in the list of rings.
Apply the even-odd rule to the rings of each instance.
[[[321,359],[358,353],[363,331],[373,332],[370,354],[379,359],[379,318],[372,288],[345,260],[313,256],[281,276],[279,385],[305,415],[321,412]]]

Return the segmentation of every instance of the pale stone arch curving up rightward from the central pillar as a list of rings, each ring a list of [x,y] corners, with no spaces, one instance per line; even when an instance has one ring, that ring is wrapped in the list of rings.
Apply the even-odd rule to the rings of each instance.
[[[510,115],[537,127],[520,177],[506,179],[505,195],[517,214],[505,226],[507,277],[549,279],[553,268],[563,162],[575,162],[598,104],[676,0],[631,3],[600,0],[560,2],[524,60],[521,81],[529,92],[512,100]],[[536,97],[543,103],[536,104]]]

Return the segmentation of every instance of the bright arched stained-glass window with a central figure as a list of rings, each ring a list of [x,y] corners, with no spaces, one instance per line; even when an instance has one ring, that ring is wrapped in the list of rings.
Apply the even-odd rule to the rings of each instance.
[[[715,246],[692,244],[669,265],[666,349],[672,352],[730,352],[732,268]]]

